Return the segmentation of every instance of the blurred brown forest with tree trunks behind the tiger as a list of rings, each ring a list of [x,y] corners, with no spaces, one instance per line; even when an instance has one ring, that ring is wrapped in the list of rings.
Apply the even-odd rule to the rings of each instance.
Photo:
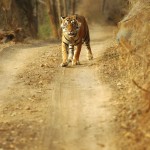
[[[126,0],[0,0],[0,29],[22,28],[33,38],[59,38],[61,16],[78,13],[88,22],[116,24],[127,13],[127,7]]]

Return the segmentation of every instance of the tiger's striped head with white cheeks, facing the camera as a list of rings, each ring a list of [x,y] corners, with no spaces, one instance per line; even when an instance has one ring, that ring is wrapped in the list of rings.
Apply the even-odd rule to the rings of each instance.
[[[81,23],[76,16],[61,17],[61,28],[63,34],[69,37],[75,37],[80,29]]]

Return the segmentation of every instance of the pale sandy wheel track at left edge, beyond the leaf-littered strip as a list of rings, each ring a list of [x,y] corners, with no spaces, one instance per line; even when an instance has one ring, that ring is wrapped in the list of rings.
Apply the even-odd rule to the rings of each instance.
[[[39,49],[38,49],[39,50]],[[33,56],[38,53],[36,48],[26,48],[23,50],[15,48],[6,48],[0,54],[0,97],[6,94],[9,87],[12,86],[18,71],[28,64]],[[0,99],[3,101],[4,99]]]

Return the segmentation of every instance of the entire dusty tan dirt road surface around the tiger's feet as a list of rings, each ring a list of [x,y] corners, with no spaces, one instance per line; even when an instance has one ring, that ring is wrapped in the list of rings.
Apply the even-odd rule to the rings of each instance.
[[[112,91],[97,74],[113,27],[91,27],[94,59],[59,67],[60,43],[0,50],[0,150],[118,150]]]

